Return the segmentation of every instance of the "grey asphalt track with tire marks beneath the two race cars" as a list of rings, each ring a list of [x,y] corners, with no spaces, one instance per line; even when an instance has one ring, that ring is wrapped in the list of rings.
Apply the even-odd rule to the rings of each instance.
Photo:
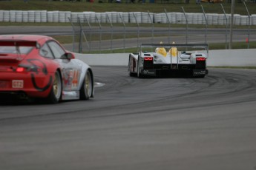
[[[256,70],[140,79],[92,68],[105,86],[89,101],[1,103],[0,169],[256,169]]]

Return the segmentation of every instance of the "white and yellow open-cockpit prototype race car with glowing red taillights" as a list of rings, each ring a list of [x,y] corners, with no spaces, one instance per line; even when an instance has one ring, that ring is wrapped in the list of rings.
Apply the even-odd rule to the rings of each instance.
[[[146,51],[153,49],[154,52]],[[141,44],[140,52],[129,55],[128,72],[130,76],[139,78],[204,78],[208,74],[208,55],[208,44]]]

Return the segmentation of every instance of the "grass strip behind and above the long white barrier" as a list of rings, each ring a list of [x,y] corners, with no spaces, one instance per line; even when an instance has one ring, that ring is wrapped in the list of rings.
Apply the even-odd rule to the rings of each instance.
[[[104,0],[107,1],[107,0]],[[98,0],[94,3],[87,1],[42,1],[42,0],[29,0],[28,3],[24,3],[22,0],[11,0],[11,1],[0,1],[0,10],[59,10],[59,11],[71,11],[71,12],[82,12],[82,11],[94,11],[96,13],[106,12],[106,11],[116,11],[116,12],[151,12],[151,13],[163,13],[164,10],[167,12],[183,12],[181,7],[184,7],[186,13],[202,13],[202,8],[200,5],[195,4],[195,1],[191,1],[190,4],[184,3],[170,3],[165,1],[157,0],[157,3],[148,3],[146,0],[145,4],[126,4],[125,0],[122,0],[121,4],[116,3],[98,3]],[[171,1],[171,0],[169,0]],[[180,0],[183,2],[183,0]],[[204,7],[206,13],[223,13],[223,10],[219,3],[209,4],[201,3]],[[223,3],[223,7],[226,13],[230,13],[231,4]],[[256,3],[247,3],[249,13],[256,13]],[[246,15],[246,8],[242,3],[235,3],[234,13],[240,15]]]

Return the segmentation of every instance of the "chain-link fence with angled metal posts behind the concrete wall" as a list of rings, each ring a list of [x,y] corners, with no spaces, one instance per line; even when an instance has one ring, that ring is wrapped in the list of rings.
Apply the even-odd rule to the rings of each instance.
[[[209,25],[221,25],[221,41],[228,47],[229,25],[231,15],[205,13],[93,13],[86,12],[70,18],[73,26],[73,51],[102,52],[139,47],[142,43],[209,43]],[[246,7],[246,5],[245,5]],[[247,9],[247,8],[246,8]],[[248,12],[249,13],[249,12]],[[256,16],[234,15],[234,24],[247,26],[247,43],[249,44],[250,25]],[[179,28],[174,26],[179,25]],[[256,23],[255,23],[256,24]],[[196,29],[189,28],[190,25]]]

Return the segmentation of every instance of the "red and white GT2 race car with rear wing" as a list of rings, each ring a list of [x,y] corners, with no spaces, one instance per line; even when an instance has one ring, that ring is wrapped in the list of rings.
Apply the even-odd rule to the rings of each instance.
[[[55,39],[0,35],[0,98],[47,103],[93,98],[93,71]]]

